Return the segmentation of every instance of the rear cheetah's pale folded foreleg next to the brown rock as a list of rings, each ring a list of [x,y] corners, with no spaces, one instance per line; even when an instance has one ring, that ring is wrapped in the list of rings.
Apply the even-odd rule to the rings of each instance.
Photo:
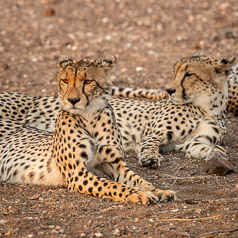
[[[176,150],[184,151],[189,157],[205,159],[206,161],[215,156],[227,159],[225,149],[219,145],[208,144],[205,137],[189,139],[184,144],[176,146]]]

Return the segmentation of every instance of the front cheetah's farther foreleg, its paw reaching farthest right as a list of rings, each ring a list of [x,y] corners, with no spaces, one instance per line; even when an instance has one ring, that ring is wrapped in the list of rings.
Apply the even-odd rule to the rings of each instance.
[[[175,193],[171,190],[156,189],[150,182],[141,178],[131,171],[115,146],[102,146],[99,148],[102,163],[99,168],[114,181],[126,184],[130,187],[137,187],[143,191],[151,191],[158,197],[160,202],[175,199]]]

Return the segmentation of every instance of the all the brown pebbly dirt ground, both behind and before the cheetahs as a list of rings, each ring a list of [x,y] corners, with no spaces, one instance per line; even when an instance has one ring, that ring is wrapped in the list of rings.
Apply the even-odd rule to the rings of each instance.
[[[173,64],[203,52],[238,59],[237,0],[1,0],[0,88],[56,95],[56,61],[118,58],[118,86],[164,88]],[[169,153],[157,170],[129,166],[178,201],[117,203],[64,187],[0,183],[0,237],[238,237],[238,119],[225,147],[236,172],[206,175],[205,162]]]

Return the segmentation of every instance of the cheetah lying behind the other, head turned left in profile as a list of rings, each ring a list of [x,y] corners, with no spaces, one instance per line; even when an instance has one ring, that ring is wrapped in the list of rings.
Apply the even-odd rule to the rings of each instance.
[[[226,134],[227,75],[234,60],[204,55],[181,59],[168,84],[168,100],[111,98],[125,150],[136,148],[139,164],[150,168],[160,166],[161,152],[174,149],[196,159],[227,158],[220,144]],[[3,93],[0,100],[2,117],[54,128],[58,99]]]

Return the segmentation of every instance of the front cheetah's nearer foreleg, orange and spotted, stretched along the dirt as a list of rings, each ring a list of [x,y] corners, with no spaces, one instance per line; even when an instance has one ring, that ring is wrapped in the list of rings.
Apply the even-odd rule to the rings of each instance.
[[[72,151],[69,150],[65,151],[67,160],[62,161],[60,155],[56,158],[57,166],[70,190],[95,197],[110,198],[114,201],[131,201],[142,204],[158,202],[158,197],[150,191],[142,191],[136,187],[100,178],[89,172],[85,166],[89,160],[98,164],[96,156],[92,153],[93,145],[90,143],[90,139],[86,138],[77,142],[77,145],[77,147],[73,147],[75,153],[72,154]],[[56,149],[61,150],[62,148],[56,147]],[[57,151],[55,155],[57,155]]]

